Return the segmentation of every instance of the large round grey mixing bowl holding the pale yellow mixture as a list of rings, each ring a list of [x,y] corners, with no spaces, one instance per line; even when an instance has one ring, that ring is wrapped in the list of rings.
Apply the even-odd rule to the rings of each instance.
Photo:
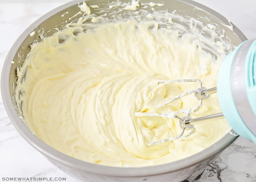
[[[151,0],[141,1],[148,3]],[[243,33],[237,29],[236,26],[230,23],[230,21],[202,4],[191,0],[153,1],[155,3],[164,3],[161,7],[155,7],[156,10],[167,9],[168,12],[176,10],[176,14],[184,17],[194,17],[196,20],[202,21],[205,26],[209,23],[215,24],[219,29],[217,33],[228,37],[226,41],[229,41],[230,44],[233,44],[234,46],[237,46],[242,41],[246,40]],[[109,1],[86,1],[87,5],[107,2]],[[39,36],[39,34],[50,36],[54,31],[56,31],[56,28],[61,29],[67,22],[70,22],[80,16],[78,15],[69,19],[80,11],[78,3],[81,4],[82,2],[80,2],[80,0],[72,1],[39,18],[31,24],[30,27],[22,33],[22,35],[20,35],[7,55],[1,75],[1,93],[7,114],[22,137],[24,137],[33,147],[35,147],[35,149],[65,173],[83,181],[182,181],[206,168],[217,158],[222,150],[237,138],[236,136],[229,132],[214,145],[200,153],[180,161],[158,166],[121,168],[96,165],[62,154],[37,138],[37,136],[27,128],[22,119],[20,119],[20,112],[18,111],[16,107],[17,103],[15,102],[16,67],[20,67],[22,65],[27,53],[30,51],[31,43],[35,40],[41,41],[42,36]],[[67,11],[69,13],[63,16]],[[184,24],[184,26],[186,26],[186,24]],[[31,32],[33,32],[34,35]]]

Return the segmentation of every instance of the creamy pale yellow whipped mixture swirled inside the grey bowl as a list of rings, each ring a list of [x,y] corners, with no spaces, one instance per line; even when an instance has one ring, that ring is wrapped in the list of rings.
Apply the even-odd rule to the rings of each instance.
[[[229,128],[227,122],[198,124],[186,139],[147,146],[181,129],[177,120],[135,113],[197,106],[198,100],[188,96],[156,108],[199,86],[158,82],[201,79],[204,86],[214,87],[218,59],[212,63],[195,35],[159,28],[156,20],[101,23],[85,32],[76,24],[31,46],[17,69],[16,93],[22,93],[17,102],[30,130],[64,154],[108,166],[169,163],[218,141]],[[212,95],[191,116],[219,112],[217,102],[217,94]]]

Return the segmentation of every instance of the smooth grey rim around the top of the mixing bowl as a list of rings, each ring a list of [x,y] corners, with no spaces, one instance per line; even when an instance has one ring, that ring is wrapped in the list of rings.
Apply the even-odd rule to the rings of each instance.
[[[88,0],[85,0],[85,2]],[[233,31],[240,37],[241,41],[247,40],[245,35],[229,20],[227,20],[224,16],[219,14],[218,12],[212,10],[211,8],[206,7],[200,3],[197,3],[193,0],[179,0],[184,3],[191,4],[197,8],[200,8],[207,13],[214,15],[219,21],[227,26],[232,26]],[[43,141],[41,141],[33,132],[27,128],[26,124],[22,121],[22,119],[17,114],[14,105],[12,104],[11,93],[10,93],[10,70],[12,61],[18,51],[19,47],[22,45],[23,41],[29,36],[31,32],[34,31],[36,27],[42,24],[45,20],[53,16],[54,14],[60,12],[63,9],[71,7],[75,4],[82,3],[82,0],[74,0],[68,3],[65,3],[52,11],[49,11],[45,15],[41,16],[39,19],[34,21],[23,33],[18,37],[15,41],[13,46],[11,47],[10,51],[8,52],[6,59],[3,64],[2,73],[1,73],[1,95],[3,99],[3,104],[5,110],[10,118],[12,124],[16,128],[16,130],[22,135],[22,137],[30,143],[35,149],[40,151],[42,154],[46,155],[53,160],[62,163],[66,166],[70,166],[77,170],[87,171],[93,174],[102,174],[106,176],[115,176],[115,177],[142,177],[142,176],[149,176],[149,175],[160,175],[170,173],[172,171],[178,171],[185,169],[187,167],[196,165],[213,157],[224,150],[227,146],[229,146],[232,142],[237,139],[237,136],[230,134],[229,132],[222,137],[219,141],[214,143],[214,145],[204,149],[203,151],[194,154],[190,157],[185,159],[181,159],[178,161],[157,165],[157,166],[144,166],[144,167],[112,167],[112,166],[103,166],[97,165],[94,163],[89,163],[85,161],[81,161],[79,159],[72,158],[66,154],[63,154],[56,149],[53,149]]]

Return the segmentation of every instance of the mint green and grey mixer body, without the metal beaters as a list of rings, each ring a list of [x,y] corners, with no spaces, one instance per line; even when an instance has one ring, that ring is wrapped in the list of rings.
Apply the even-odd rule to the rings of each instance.
[[[217,92],[233,130],[256,143],[256,40],[246,40],[223,60]]]

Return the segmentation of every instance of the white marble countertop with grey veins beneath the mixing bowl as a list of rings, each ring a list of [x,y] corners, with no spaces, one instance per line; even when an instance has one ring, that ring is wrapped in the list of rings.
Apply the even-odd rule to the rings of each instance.
[[[14,41],[33,21],[69,0],[0,0],[0,68]],[[256,0],[197,0],[256,38]],[[0,181],[7,177],[63,177],[76,182],[30,146],[12,126],[0,98]],[[239,137],[202,174],[185,182],[256,181],[256,145]]]

